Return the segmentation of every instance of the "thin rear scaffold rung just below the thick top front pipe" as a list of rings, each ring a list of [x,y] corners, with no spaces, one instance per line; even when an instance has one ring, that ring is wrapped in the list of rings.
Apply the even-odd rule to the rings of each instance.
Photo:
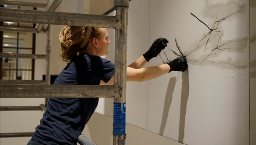
[[[16,26],[1,26],[0,31],[16,31],[16,32],[32,32],[32,33],[38,32],[35,28],[16,27]],[[47,33],[47,31],[39,31],[39,33]]]

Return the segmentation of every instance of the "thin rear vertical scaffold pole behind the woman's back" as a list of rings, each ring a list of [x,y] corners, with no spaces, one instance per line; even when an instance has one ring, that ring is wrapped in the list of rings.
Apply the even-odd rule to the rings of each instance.
[[[51,56],[51,25],[48,26],[48,33],[47,33],[47,46],[46,46],[46,55],[47,55],[47,60],[46,60],[46,74],[45,74],[45,80],[47,84],[51,83],[50,79],[50,56]],[[48,103],[48,98],[45,99],[45,106],[47,106]]]

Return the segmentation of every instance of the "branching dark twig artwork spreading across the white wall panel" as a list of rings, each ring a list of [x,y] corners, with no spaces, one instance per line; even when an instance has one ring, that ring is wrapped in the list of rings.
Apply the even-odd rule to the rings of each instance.
[[[177,54],[177,52],[170,49],[168,46],[167,48],[171,50],[175,55],[177,56],[183,56],[187,58],[188,61],[192,61],[195,63],[202,64],[205,61],[207,61],[210,64],[227,64],[228,67],[235,67],[237,69],[247,69],[249,65],[249,60],[247,62],[241,62],[238,59],[233,59],[232,55],[233,53],[240,53],[246,51],[247,44],[249,43],[248,37],[241,37],[241,38],[235,38],[228,41],[222,41],[222,37],[224,35],[224,29],[221,28],[221,23],[224,23],[227,18],[232,17],[235,14],[238,14],[239,12],[244,11],[245,6],[239,6],[238,4],[234,2],[230,2],[227,5],[221,5],[221,6],[212,6],[209,7],[209,10],[212,10],[213,12],[221,12],[224,9],[232,9],[232,11],[228,11],[224,14],[207,14],[207,16],[210,16],[212,18],[215,18],[215,22],[209,27],[203,20],[199,19],[195,14],[192,12],[190,13],[193,17],[195,17],[199,22],[203,23],[205,26],[207,26],[207,29],[209,29],[209,32],[206,32],[200,41],[198,42],[198,45],[195,48],[190,49],[189,52],[186,52],[184,54],[179,44],[177,43],[177,39],[175,37],[175,43],[176,46],[181,53],[181,55]],[[232,24],[230,24],[232,25]],[[234,30],[236,31],[236,30]],[[166,55],[166,52],[163,51],[163,53]],[[223,58],[223,54],[228,54],[226,57]],[[164,62],[162,56],[160,55],[160,58]],[[169,61],[169,58],[166,55],[167,60]],[[241,76],[246,76],[241,75]],[[241,77],[239,76],[239,77]],[[238,79],[238,78],[237,78]]]

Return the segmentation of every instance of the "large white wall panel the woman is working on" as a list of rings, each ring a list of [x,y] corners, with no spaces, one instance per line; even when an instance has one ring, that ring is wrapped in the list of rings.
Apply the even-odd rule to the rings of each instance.
[[[215,30],[210,32],[190,12]],[[249,1],[131,1],[128,64],[159,37],[167,38],[175,52],[177,38],[189,68],[148,84],[128,82],[127,122],[189,145],[249,145],[249,104],[255,96],[249,69]],[[177,57],[168,48],[165,53],[168,60]],[[161,52],[165,62],[166,55]],[[253,63],[255,57],[251,59]],[[149,66],[163,61],[154,58]],[[112,101],[104,104],[108,116],[113,116]]]

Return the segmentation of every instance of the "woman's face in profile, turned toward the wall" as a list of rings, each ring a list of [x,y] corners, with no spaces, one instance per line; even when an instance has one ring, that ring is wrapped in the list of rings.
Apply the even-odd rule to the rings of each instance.
[[[106,28],[100,28],[101,29],[101,36],[99,39],[97,39],[98,49],[97,53],[99,56],[107,55],[108,54],[108,45],[111,43],[108,40],[108,30]]]

